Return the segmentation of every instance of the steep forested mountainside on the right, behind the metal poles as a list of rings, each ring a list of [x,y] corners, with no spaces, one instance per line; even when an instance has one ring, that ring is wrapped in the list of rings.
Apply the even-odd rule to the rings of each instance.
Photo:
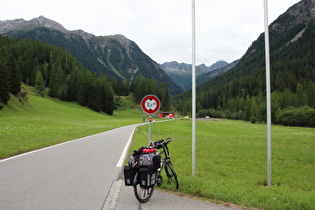
[[[314,35],[315,0],[298,2],[269,25],[273,123],[314,125]],[[235,67],[197,87],[197,115],[265,122],[265,68],[261,33]],[[178,111],[189,114],[191,92],[174,101]]]

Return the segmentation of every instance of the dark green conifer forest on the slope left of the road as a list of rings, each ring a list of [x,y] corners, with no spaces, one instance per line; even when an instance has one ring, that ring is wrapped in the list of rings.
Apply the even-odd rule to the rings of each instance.
[[[145,81],[143,78],[140,80]],[[108,79],[104,74],[92,73],[69,52],[42,41],[11,39],[0,35],[1,107],[7,104],[11,94],[20,93],[22,82],[34,86],[42,95],[48,89],[51,97],[76,101],[109,115],[116,108],[116,95],[129,95],[133,90],[136,95],[141,94],[137,85],[142,85],[142,82],[131,85],[129,81]],[[164,87],[154,79],[152,83]],[[163,91],[168,95],[167,88]]]

